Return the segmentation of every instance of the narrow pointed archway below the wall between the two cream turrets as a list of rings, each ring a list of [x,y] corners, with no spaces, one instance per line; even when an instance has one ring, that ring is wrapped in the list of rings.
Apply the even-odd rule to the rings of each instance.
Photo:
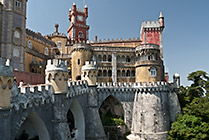
[[[85,121],[83,110],[75,99],[67,112],[70,135],[77,140],[85,140]]]

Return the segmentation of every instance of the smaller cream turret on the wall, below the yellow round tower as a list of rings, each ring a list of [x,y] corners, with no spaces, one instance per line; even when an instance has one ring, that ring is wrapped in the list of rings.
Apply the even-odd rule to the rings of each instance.
[[[98,69],[95,61],[86,61],[82,67],[81,79],[86,80],[88,85],[96,85]]]

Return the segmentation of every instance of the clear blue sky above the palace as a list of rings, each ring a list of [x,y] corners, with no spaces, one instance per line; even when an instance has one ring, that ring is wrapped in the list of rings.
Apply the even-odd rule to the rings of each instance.
[[[209,0],[29,0],[27,28],[43,35],[54,32],[54,24],[66,33],[68,10],[73,2],[79,9],[88,5],[90,40],[140,36],[142,21],[165,17],[164,64],[170,80],[174,73],[188,85],[190,72],[209,73]]]

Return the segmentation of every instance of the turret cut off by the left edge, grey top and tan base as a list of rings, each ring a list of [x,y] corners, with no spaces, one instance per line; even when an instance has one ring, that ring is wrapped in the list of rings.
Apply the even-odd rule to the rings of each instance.
[[[10,107],[10,90],[13,80],[14,74],[11,61],[0,58],[0,108]]]

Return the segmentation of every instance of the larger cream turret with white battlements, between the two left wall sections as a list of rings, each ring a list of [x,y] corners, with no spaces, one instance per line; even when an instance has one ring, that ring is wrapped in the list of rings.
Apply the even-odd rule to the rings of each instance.
[[[59,59],[48,60],[45,73],[46,84],[53,86],[55,94],[67,92],[67,61]]]

